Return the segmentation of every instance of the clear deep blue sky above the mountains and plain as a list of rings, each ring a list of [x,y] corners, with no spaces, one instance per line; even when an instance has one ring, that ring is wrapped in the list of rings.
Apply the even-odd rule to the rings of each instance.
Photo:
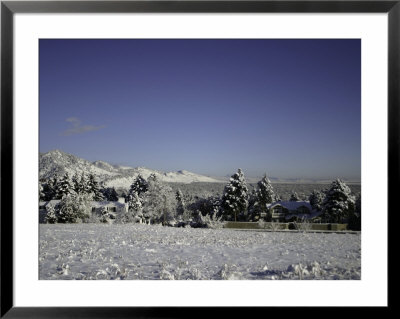
[[[40,152],[224,176],[361,175],[361,41],[39,42]]]

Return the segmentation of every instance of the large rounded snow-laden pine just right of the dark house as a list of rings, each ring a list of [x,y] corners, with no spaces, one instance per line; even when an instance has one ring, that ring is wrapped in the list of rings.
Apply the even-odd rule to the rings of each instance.
[[[332,182],[322,202],[322,217],[331,223],[345,221],[354,212],[354,196],[340,179]]]

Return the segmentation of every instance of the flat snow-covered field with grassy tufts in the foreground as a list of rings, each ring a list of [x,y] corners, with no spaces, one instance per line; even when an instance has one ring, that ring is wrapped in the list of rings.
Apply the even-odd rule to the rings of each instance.
[[[40,279],[360,279],[361,235],[40,225]]]

